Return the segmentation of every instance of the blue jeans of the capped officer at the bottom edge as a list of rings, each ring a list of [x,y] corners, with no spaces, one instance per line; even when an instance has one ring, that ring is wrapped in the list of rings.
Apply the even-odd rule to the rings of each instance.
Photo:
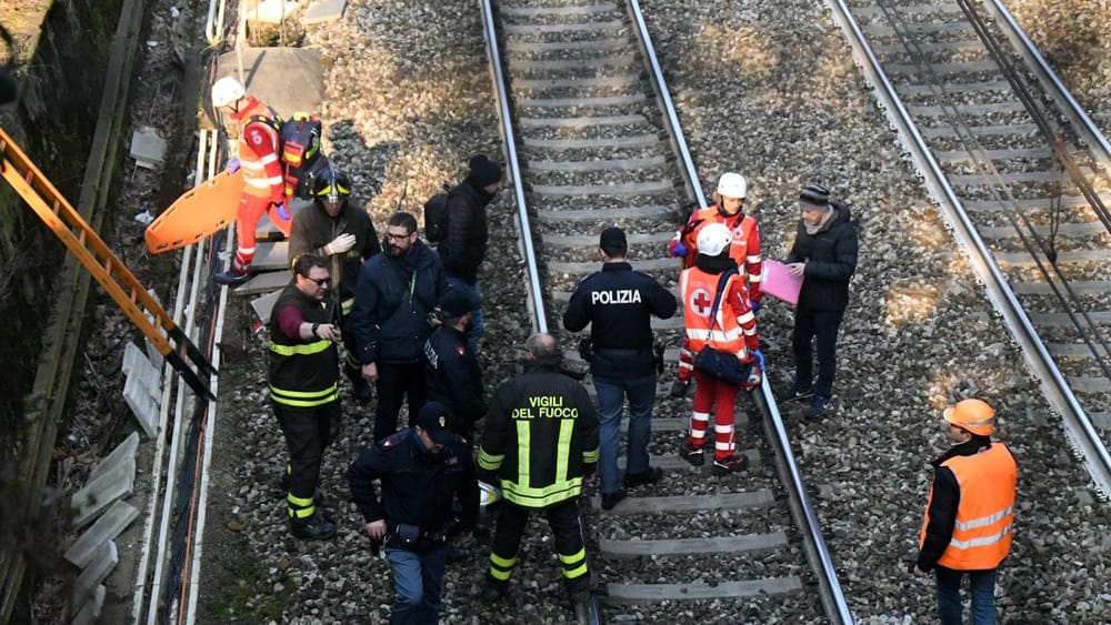
[[[397,592],[390,625],[436,625],[440,622],[440,592],[448,551],[447,543],[426,554],[386,548]]]

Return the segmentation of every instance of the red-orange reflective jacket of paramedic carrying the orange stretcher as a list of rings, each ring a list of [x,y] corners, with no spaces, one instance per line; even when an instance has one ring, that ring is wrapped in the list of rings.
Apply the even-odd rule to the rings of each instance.
[[[274,123],[252,121],[256,117],[274,120],[274,113],[262,102],[249,97],[249,103],[238,114],[239,120],[239,167],[243,170],[243,193],[257,198],[276,198],[281,201],[284,180],[281,163],[278,162],[281,138]],[[248,132],[250,127],[250,132]]]

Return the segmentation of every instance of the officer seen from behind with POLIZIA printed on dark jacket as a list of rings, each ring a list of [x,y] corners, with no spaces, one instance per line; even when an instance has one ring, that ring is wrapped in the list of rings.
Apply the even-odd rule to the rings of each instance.
[[[629,461],[624,486],[654,484],[663,471],[649,464],[655,404],[655,354],[651,316],[670,319],[678,302],[652,276],[633,271],[627,256],[629,242],[620,228],[607,228],[599,240],[602,271],[579,284],[563,326],[579,332],[590,324],[590,373],[598,392],[601,417],[599,474],[602,508],[612,510],[625,497],[618,483],[621,413],[629,397]]]

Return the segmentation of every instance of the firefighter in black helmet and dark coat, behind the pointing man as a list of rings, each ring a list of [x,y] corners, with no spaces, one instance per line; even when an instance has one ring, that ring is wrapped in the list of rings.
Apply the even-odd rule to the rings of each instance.
[[[337,323],[343,329],[343,347],[347,351],[343,371],[354,396],[360,403],[373,399],[370,383],[362,377],[362,364],[356,356],[354,335],[344,322],[351,317],[354,306],[354,288],[359,281],[359,268],[374,254],[382,251],[378,232],[367,211],[351,201],[351,181],[347,174],[329,164],[320,172],[312,189],[311,206],[293,215],[289,235],[289,261],[301,254],[319,254],[330,262],[332,271],[332,296]]]

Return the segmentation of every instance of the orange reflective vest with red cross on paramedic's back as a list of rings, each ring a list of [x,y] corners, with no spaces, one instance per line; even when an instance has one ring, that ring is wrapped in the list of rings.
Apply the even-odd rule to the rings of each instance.
[[[718,291],[720,275],[707,273],[701,269],[684,269],[679,274],[679,292],[683,299],[683,325],[690,351],[698,353],[705,345],[714,350],[737,354],[737,357],[749,359],[747,336],[757,332],[755,316],[752,311],[744,311],[740,316],[729,301],[731,290],[743,289],[743,279],[731,275],[724,284],[724,295],[718,305],[718,314],[710,319],[710,309]]]

